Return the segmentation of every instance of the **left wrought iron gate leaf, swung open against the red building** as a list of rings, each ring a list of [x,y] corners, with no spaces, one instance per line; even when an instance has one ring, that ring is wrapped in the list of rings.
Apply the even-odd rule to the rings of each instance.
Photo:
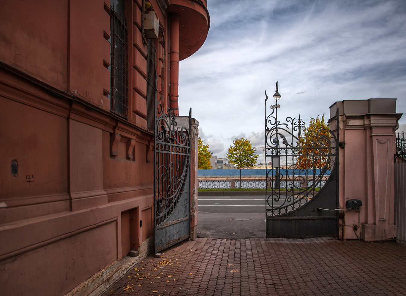
[[[174,111],[156,103],[154,141],[155,253],[190,236],[190,117],[177,127]]]

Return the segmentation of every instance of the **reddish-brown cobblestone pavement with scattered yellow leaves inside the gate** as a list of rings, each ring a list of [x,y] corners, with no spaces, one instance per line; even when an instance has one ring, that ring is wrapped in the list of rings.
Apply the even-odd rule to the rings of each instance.
[[[198,238],[152,255],[110,295],[406,295],[406,246],[333,238]]]

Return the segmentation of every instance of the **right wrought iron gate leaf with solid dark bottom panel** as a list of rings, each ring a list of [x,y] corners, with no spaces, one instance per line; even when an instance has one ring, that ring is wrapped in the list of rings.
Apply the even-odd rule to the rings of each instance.
[[[281,123],[280,97],[276,82],[270,112],[265,99],[266,237],[338,237],[338,129],[306,132],[300,116]]]

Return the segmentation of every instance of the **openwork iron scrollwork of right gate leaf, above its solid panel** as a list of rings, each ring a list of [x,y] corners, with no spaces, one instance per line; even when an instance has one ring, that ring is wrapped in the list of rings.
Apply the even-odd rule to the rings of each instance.
[[[307,132],[300,115],[281,123],[277,104],[267,115],[267,101],[266,95],[266,216],[277,217],[301,208],[322,189],[336,169],[339,143],[329,129]]]

